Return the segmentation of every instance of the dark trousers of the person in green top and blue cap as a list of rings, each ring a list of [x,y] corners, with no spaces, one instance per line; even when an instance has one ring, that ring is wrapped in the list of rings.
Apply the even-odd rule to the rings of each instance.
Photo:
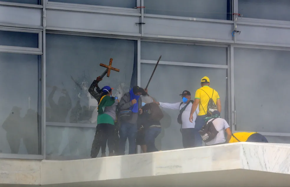
[[[92,144],[92,150],[90,155],[91,158],[96,158],[98,156],[101,146],[105,146],[104,150],[106,150],[107,141],[110,152],[110,149],[113,147],[114,129],[114,125],[108,123],[101,123],[97,125],[95,138]]]

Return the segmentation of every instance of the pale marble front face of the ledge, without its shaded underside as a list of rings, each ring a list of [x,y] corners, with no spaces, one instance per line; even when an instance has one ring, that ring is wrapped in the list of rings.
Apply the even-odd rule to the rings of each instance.
[[[290,174],[290,146],[238,142],[71,161],[0,159],[0,184],[50,185],[216,171]]]

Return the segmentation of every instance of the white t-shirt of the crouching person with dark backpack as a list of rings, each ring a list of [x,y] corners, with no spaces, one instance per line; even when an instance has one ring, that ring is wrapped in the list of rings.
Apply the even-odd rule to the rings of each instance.
[[[208,122],[212,121],[213,119],[208,120]],[[217,129],[218,134],[213,140],[207,142],[206,144],[213,145],[213,144],[224,143],[225,142],[225,129],[230,128],[228,122],[225,121],[225,119],[219,117],[215,119],[215,121],[213,121],[212,123],[215,126],[215,129]]]

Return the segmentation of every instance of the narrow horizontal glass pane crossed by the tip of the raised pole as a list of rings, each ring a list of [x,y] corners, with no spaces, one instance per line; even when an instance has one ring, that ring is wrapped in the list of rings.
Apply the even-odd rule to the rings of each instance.
[[[226,65],[225,47],[196,46],[175,43],[141,42],[141,59]]]

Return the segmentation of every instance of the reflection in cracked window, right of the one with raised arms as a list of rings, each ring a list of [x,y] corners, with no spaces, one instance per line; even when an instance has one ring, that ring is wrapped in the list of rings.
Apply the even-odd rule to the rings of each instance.
[[[87,108],[87,107],[86,107]],[[77,101],[75,107],[72,108],[70,112],[70,123],[79,123],[83,120],[83,114],[85,113],[85,107],[80,106],[80,100]],[[88,117],[89,119],[90,117]],[[70,128],[68,132],[68,139],[69,139],[69,148],[70,154],[72,156],[77,155],[79,152],[79,156],[88,156],[87,151],[87,140],[85,136],[84,128],[77,127],[77,128]]]

